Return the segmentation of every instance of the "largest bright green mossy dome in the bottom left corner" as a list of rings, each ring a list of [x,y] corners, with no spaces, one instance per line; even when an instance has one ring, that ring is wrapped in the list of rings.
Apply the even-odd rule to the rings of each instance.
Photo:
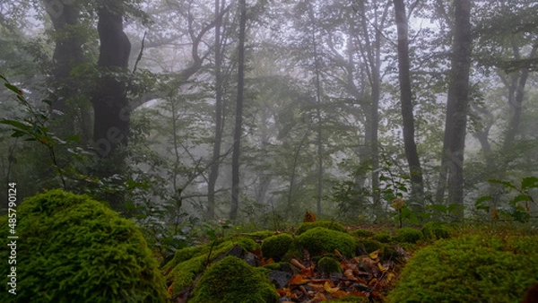
[[[134,222],[87,195],[62,190],[17,208],[17,295],[1,302],[163,302],[157,262]],[[8,234],[6,221],[0,232]],[[4,240],[3,247],[6,247]],[[10,252],[2,249],[3,260]],[[0,266],[4,287],[9,266]]]

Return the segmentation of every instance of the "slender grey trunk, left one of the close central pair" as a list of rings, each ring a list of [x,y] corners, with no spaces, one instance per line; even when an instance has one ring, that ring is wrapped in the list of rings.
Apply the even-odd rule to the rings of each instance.
[[[223,2],[223,1],[222,1]],[[213,143],[213,155],[211,170],[207,179],[207,212],[206,219],[213,219],[215,216],[215,186],[219,177],[221,165],[221,143],[222,143],[222,74],[221,74],[221,0],[215,0],[215,138]]]

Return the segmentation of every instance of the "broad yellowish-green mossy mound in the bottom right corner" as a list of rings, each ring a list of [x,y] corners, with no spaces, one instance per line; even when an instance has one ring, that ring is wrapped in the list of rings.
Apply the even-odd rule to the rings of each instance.
[[[538,282],[538,236],[443,239],[404,267],[389,302],[521,302]]]

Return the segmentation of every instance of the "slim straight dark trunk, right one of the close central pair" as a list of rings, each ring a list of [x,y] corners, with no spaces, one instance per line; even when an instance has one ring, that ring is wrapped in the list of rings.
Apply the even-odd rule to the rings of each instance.
[[[238,54],[238,98],[236,104],[236,121],[233,134],[233,151],[231,155],[231,205],[230,220],[237,220],[239,208],[239,154],[243,127],[243,91],[245,89],[245,39],[247,27],[247,3],[239,0],[239,54]]]

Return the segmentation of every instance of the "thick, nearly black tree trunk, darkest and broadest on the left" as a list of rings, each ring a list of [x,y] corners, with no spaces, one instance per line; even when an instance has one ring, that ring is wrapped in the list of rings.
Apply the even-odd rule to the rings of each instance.
[[[128,142],[130,108],[126,99],[126,83],[111,72],[121,73],[127,68],[131,43],[123,31],[120,13],[101,7],[98,14],[98,65],[105,75],[100,76],[91,100],[95,115],[93,140],[99,156],[107,158],[120,144]]]

